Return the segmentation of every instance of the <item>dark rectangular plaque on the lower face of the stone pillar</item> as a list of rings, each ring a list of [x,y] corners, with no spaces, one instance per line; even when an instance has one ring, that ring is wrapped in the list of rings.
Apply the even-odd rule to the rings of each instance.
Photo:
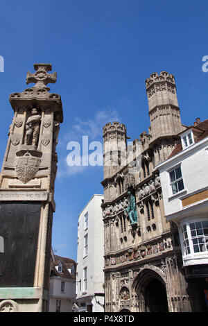
[[[0,286],[33,286],[40,202],[1,202]]]

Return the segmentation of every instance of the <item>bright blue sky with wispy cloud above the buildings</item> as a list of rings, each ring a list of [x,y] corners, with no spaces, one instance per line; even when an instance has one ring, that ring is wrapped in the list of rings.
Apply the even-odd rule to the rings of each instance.
[[[58,255],[76,260],[78,214],[93,194],[103,193],[101,166],[67,166],[69,141],[83,135],[101,141],[102,127],[115,120],[138,138],[150,125],[145,80],[159,71],[175,76],[182,123],[207,119],[207,12],[207,1],[1,1],[1,162],[13,116],[9,94],[27,88],[26,72],[35,62],[51,63],[58,73],[49,85],[64,111],[53,217]]]

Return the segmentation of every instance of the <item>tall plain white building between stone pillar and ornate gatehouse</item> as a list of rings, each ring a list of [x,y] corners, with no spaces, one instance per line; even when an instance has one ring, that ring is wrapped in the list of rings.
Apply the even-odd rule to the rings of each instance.
[[[78,217],[77,283],[73,311],[104,311],[102,200],[103,195],[92,196]]]

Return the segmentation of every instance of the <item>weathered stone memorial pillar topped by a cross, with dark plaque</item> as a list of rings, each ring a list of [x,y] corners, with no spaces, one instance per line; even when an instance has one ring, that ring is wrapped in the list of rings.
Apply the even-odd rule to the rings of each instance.
[[[55,146],[62,102],[49,93],[51,65],[35,64],[24,92],[10,94],[15,112],[0,175],[0,311],[47,311]]]

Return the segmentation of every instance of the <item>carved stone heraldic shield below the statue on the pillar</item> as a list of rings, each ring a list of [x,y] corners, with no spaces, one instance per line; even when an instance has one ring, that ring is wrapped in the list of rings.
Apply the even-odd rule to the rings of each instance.
[[[40,151],[19,151],[16,153],[15,159],[15,171],[18,179],[27,183],[35,178],[35,175],[40,166],[40,157],[42,152]]]

